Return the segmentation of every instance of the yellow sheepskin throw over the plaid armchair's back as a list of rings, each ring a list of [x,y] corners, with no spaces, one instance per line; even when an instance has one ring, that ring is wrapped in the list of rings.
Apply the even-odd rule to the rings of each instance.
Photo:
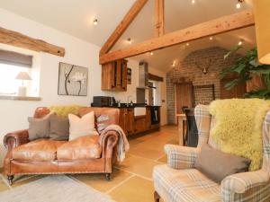
[[[250,159],[249,171],[262,167],[262,127],[269,109],[270,101],[261,99],[220,100],[210,105],[215,120],[212,140],[222,152]]]

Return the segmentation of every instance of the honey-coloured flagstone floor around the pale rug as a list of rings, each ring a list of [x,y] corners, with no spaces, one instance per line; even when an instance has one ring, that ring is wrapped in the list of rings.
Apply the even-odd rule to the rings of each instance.
[[[67,176],[110,195],[118,202],[151,202],[154,192],[152,170],[155,165],[166,163],[163,150],[166,144],[178,144],[177,127],[161,127],[157,132],[130,139],[130,151],[124,162],[114,166],[111,181],[104,180],[103,174]],[[14,185],[10,187],[1,175],[0,192],[42,177],[40,175],[16,177]]]

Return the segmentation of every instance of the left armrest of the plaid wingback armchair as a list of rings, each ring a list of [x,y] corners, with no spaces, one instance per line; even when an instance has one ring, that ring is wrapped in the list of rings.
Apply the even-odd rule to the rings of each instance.
[[[193,168],[200,152],[198,148],[179,145],[165,145],[164,149],[167,154],[167,164],[173,169]]]

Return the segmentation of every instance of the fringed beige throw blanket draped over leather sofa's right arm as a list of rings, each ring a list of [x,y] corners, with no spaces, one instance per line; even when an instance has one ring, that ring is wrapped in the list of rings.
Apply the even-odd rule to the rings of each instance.
[[[125,159],[126,152],[130,149],[130,144],[125,135],[124,131],[118,125],[109,125],[108,127],[104,128],[103,133],[107,133],[108,131],[113,130],[117,131],[119,139],[117,144],[117,161],[122,162]]]

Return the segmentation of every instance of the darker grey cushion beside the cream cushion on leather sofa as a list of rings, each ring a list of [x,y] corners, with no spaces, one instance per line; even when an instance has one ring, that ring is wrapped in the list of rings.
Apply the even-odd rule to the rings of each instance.
[[[69,121],[67,118],[60,118],[56,114],[50,116],[49,138],[54,140],[68,140]]]

